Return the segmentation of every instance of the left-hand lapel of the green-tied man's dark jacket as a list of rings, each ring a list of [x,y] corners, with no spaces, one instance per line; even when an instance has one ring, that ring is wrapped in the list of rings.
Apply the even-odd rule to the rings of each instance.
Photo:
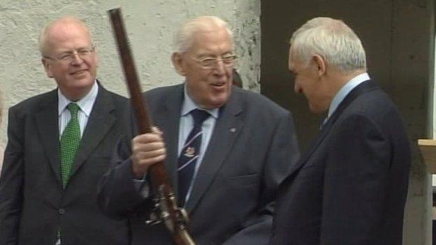
[[[48,93],[47,99],[39,106],[36,112],[36,128],[38,128],[41,144],[43,144],[48,162],[54,175],[61,183],[61,173],[59,165],[59,115],[57,110],[57,89]]]

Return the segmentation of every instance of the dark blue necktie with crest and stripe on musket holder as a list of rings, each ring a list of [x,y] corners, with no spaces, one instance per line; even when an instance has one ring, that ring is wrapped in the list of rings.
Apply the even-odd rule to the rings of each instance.
[[[194,119],[194,128],[192,128],[191,133],[189,133],[187,140],[184,142],[177,166],[177,187],[180,207],[184,205],[186,200],[196,169],[197,159],[200,156],[201,135],[203,135],[201,125],[205,119],[210,117],[210,114],[204,110],[195,109],[191,111],[191,116]]]

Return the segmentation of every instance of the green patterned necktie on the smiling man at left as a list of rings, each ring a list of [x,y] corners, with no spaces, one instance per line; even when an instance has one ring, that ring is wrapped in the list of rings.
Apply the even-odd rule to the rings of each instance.
[[[69,103],[67,108],[70,111],[71,119],[61,135],[61,177],[63,188],[65,188],[70,178],[75,152],[80,142],[80,124],[78,119],[80,108],[76,103]]]

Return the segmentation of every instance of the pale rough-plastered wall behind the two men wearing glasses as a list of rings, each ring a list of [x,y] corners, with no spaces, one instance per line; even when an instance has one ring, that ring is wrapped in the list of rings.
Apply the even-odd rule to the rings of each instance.
[[[173,31],[189,17],[217,15],[233,27],[237,68],[245,87],[259,91],[260,0],[0,0],[0,91],[6,144],[8,107],[56,87],[46,77],[38,52],[43,26],[56,17],[75,15],[94,32],[100,58],[98,78],[107,89],[126,95],[124,76],[107,10],[122,7],[143,90],[182,82],[170,64]]]

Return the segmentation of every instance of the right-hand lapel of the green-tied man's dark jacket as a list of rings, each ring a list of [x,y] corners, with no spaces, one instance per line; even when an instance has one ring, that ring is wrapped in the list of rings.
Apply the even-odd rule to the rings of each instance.
[[[82,140],[80,140],[73,170],[71,171],[71,177],[78,171],[89,154],[99,145],[115,123],[115,117],[112,114],[113,110],[115,110],[115,106],[112,103],[110,94],[99,85],[99,94],[97,94],[96,101],[89,115]]]

